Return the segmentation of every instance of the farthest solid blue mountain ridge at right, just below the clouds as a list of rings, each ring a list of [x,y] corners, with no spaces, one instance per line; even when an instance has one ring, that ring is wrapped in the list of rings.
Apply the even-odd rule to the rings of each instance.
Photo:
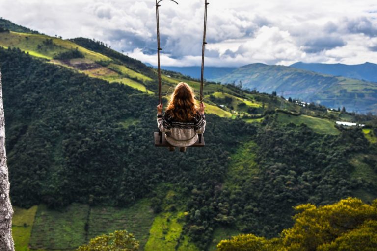
[[[377,82],[377,65],[369,62],[360,65],[297,62],[290,67],[315,71],[327,75]]]

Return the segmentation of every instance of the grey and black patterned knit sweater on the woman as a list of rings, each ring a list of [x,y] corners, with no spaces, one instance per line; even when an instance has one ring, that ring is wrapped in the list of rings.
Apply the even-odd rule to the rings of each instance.
[[[204,133],[206,117],[197,113],[191,121],[174,120],[168,113],[157,114],[159,130],[165,133],[166,141],[178,147],[193,145],[198,139],[198,134]]]

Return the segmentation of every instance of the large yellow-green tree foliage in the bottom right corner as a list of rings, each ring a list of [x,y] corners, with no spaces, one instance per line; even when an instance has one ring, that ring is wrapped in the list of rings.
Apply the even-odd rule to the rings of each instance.
[[[252,234],[223,240],[219,251],[376,251],[377,200],[347,198],[333,205],[295,207],[295,224],[279,239]]]

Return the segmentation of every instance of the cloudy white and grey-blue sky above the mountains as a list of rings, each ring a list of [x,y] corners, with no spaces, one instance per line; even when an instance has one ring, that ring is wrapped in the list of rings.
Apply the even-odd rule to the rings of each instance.
[[[204,0],[177,1],[160,7],[162,65],[200,65]],[[207,66],[377,63],[376,0],[209,2]],[[0,17],[157,64],[154,0],[0,0]]]

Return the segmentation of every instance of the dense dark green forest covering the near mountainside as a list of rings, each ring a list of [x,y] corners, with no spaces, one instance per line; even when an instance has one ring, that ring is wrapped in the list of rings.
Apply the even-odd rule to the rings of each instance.
[[[14,205],[124,207],[149,197],[158,213],[173,185],[169,210],[188,212],[185,233],[206,249],[216,227],[274,237],[292,226],[292,206],[377,197],[376,183],[351,175],[361,154],[377,171],[376,144],[360,128],[329,135],[279,123],[273,111],[261,123],[208,114],[206,147],[172,154],[153,146],[156,96],[19,49],[0,49],[0,63]]]

